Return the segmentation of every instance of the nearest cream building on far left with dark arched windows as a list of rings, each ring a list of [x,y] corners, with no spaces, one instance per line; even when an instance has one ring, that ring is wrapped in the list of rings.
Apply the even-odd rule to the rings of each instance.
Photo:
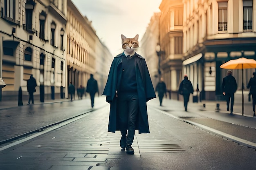
[[[66,0],[1,0],[0,65],[3,100],[27,93],[27,79],[37,82],[36,97],[63,97],[66,86]]]

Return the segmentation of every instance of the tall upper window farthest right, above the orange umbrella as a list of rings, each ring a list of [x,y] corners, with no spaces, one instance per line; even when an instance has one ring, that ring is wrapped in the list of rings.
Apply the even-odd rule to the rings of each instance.
[[[243,0],[244,31],[252,31],[252,0]]]

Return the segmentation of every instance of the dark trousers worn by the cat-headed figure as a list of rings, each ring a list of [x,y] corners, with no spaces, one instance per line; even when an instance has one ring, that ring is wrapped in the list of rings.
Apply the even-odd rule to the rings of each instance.
[[[117,121],[120,125],[122,135],[126,135],[126,144],[132,145],[137,115],[139,110],[138,94],[136,93],[121,93],[117,97]]]

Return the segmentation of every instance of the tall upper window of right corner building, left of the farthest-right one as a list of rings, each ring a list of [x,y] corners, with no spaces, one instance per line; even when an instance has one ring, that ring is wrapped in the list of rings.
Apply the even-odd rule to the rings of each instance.
[[[227,2],[218,2],[219,8],[219,31],[227,31]]]

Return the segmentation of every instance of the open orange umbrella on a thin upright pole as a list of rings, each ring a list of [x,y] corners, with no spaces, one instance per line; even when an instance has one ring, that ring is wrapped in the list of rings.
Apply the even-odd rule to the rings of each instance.
[[[241,57],[234,60],[229,60],[220,66],[225,69],[242,69],[242,115],[244,115],[244,91],[243,91],[243,69],[256,68],[256,60]]]

